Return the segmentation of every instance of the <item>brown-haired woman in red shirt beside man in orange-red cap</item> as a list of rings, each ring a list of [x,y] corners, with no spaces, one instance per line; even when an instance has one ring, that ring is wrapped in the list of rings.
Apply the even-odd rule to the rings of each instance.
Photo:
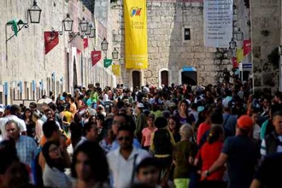
[[[219,158],[221,149],[223,148],[224,133],[221,125],[215,125],[209,131],[207,141],[197,154],[195,165],[198,165],[199,161],[202,163],[202,172],[209,170],[214,162]],[[208,177],[202,177],[200,187],[226,187],[226,182],[223,182],[223,175],[225,168],[212,173]]]

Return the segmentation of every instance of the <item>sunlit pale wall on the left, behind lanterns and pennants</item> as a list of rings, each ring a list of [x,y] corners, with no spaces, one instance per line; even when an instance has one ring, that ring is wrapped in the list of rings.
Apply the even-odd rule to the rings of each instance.
[[[16,0],[0,1],[0,103],[37,100],[44,94],[49,95],[50,91],[55,95],[65,90],[72,92],[74,83],[87,86],[88,83],[99,82],[103,87],[116,84],[115,76],[111,70],[104,68],[102,60],[95,66],[91,64],[90,52],[94,48],[100,49],[102,39],[106,37],[106,25],[95,21],[82,1],[37,0],[42,9],[40,23],[29,24],[28,28],[20,30],[18,37],[6,43],[5,33],[9,37],[13,31],[10,26],[6,28],[5,23],[13,18],[26,22],[27,8],[31,5],[32,0],[20,3]],[[44,55],[44,31],[51,31],[51,28],[61,30],[66,13],[70,13],[74,20],[75,32],[78,32],[78,23],[85,17],[96,25],[97,37],[89,38],[89,46],[77,53],[76,47],[69,42],[68,33],[63,33],[59,36],[59,44]]]

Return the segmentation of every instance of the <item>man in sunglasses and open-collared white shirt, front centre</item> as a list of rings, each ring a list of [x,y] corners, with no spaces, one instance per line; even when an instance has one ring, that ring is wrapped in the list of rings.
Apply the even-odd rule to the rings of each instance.
[[[128,125],[119,127],[117,138],[120,147],[106,155],[115,188],[129,187],[134,182],[137,165],[149,156],[147,151],[133,146],[133,135]]]

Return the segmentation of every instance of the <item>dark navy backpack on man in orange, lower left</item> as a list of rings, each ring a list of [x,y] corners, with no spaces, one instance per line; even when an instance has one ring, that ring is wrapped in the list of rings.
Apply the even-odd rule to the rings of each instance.
[[[39,155],[42,151],[42,146],[40,146],[35,154],[35,159],[32,161],[32,176],[37,187],[43,187],[43,172],[39,165]]]

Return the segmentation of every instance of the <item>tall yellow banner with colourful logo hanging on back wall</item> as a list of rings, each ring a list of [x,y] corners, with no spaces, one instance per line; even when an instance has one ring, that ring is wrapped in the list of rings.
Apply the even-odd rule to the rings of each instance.
[[[146,0],[123,0],[125,22],[125,68],[147,69]]]

